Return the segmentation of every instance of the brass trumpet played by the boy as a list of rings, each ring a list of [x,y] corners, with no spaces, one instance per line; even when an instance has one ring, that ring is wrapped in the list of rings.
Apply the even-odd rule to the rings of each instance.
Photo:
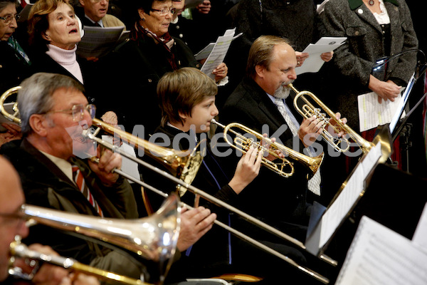
[[[319,170],[320,165],[322,165],[322,160],[325,155],[325,153],[323,152],[320,155],[317,155],[317,157],[309,157],[307,155],[303,155],[300,152],[292,150],[289,147],[285,147],[285,145],[281,145],[278,142],[272,142],[269,138],[264,138],[263,135],[255,132],[255,130],[252,130],[239,123],[230,123],[228,125],[223,125],[221,123],[218,123],[215,119],[212,119],[211,122],[224,129],[224,140],[226,140],[228,145],[231,145],[231,147],[235,148],[236,150],[240,150],[241,152],[246,153],[249,147],[254,147],[258,150],[268,152],[270,155],[273,155],[273,157],[280,160],[280,162],[272,162],[263,157],[261,163],[268,167],[268,169],[273,170],[274,172],[278,173],[283,177],[290,177],[294,172],[294,167],[292,162],[283,157],[280,157],[276,152],[277,150],[283,152],[283,154],[285,155],[288,155],[288,157],[292,158],[292,160],[302,163],[302,165],[304,165],[305,167],[307,167],[308,170],[310,170],[310,176],[315,175],[317,170]],[[248,133],[251,136],[255,136],[256,141],[253,138],[246,138],[244,135],[241,135],[241,133],[236,132],[232,128],[238,128],[240,130],[243,130],[244,133]],[[236,138],[234,138],[233,140],[234,144],[233,142],[228,140],[228,131],[236,135]],[[265,147],[262,142],[266,142],[269,147]],[[286,167],[288,167],[289,169],[288,172],[285,172]]]

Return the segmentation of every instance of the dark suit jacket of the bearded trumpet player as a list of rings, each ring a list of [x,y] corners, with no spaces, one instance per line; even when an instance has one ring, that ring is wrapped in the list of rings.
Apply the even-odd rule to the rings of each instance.
[[[295,118],[300,117],[295,115]],[[269,137],[274,136],[284,145],[292,147],[292,133],[285,119],[265,91],[250,78],[245,78],[230,95],[219,119],[224,124],[241,123],[258,133],[268,133]],[[268,126],[268,131],[263,130],[263,125]],[[277,130],[279,132],[273,135]],[[295,147],[302,152],[302,143],[299,139],[296,141]],[[233,161],[228,165],[236,165],[238,160],[235,156],[227,158]],[[294,167],[295,174],[289,178],[261,167],[258,177],[238,196],[239,205],[255,216],[269,219],[270,223],[285,221],[305,224],[307,171],[299,163],[295,163]]]

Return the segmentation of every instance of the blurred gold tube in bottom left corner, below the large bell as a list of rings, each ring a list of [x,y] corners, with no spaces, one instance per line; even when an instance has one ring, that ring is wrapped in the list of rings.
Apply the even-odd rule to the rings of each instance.
[[[70,269],[71,271],[84,273],[90,276],[95,276],[98,280],[113,282],[117,284],[126,284],[126,285],[150,285],[149,283],[143,282],[139,279],[132,279],[127,276],[122,276],[119,274],[115,274],[110,271],[105,271],[102,269],[97,269],[92,266],[88,266],[86,264],[82,264],[75,259],[58,257],[55,255],[42,254],[40,252],[33,251],[28,249],[25,244],[21,243],[21,237],[17,236],[16,240],[10,244],[11,250],[11,259],[9,262],[9,275],[16,276],[21,279],[31,280],[33,279],[34,272],[30,274],[23,273],[21,268],[13,267],[14,261],[16,257],[21,257],[24,259],[31,259],[31,262],[43,261],[48,264],[54,264],[57,266],[61,266],[65,269]],[[37,265],[37,264],[35,264]]]

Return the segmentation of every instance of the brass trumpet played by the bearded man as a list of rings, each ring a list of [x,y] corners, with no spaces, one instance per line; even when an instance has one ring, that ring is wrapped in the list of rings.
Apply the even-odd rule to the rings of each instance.
[[[337,152],[346,152],[349,150],[350,143],[347,138],[336,138],[334,135],[332,135],[327,128],[332,128],[335,133],[339,133],[342,130],[344,130],[347,135],[349,135],[349,138],[354,140],[354,142],[359,145],[359,147],[362,149],[363,153],[369,152],[369,150],[374,147],[373,142],[369,142],[362,138],[357,132],[352,130],[347,124],[342,123],[342,120],[337,120],[335,118],[335,113],[330,110],[330,108],[327,108],[327,106],[322,103],[319,98],[317,98],[313,93],[310,91],[298,91],[295,89],[294,86],[292,86],[292,83],[288,84],[288,87],[290,87],[297,95],[295,95],[294,98],[294,106],[295,109],[304,117],[304,118],[311,118],[312,116],[315,116],[317,120],[323,123],[323,130],[322,130],[322,138],[328,142],[332,147],[334,147],[334,150]],[[307,95],[309,98],[313,100],[313,103],[317,105],[316,108],[315,105],[313,105],[310,100],[305,97]],[[300,105],[298,105],[298,100],[303,101],[303,105],[300,108]],[[330,120],[333,119],[336,121],[336,124],[332,125],[330,123]],[[342,145],[344,143],[345,147],[340,147],[339,145]]]

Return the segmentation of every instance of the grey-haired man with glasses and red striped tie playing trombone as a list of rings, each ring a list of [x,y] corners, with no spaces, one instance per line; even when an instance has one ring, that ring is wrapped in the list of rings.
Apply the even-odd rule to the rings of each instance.
[[[129,183],[112,173],[122,165],[120,155],[94,150],[82,135],[92,125],[95,106],[88,104],[80,83],[60,74],[36,73],[21,84],[18,104],[23,140],[3,145],[1,153],[18,170],[28,204],[97,217],[139,217]],[[99,163],[83,159],[91,156]],[[203,207],[183,210],[179,251],[204,235],[214,219]],[[24,242],[48,244],[61,256],[117,274],[147,277],[144,261],[46,226],[31,227]]]

